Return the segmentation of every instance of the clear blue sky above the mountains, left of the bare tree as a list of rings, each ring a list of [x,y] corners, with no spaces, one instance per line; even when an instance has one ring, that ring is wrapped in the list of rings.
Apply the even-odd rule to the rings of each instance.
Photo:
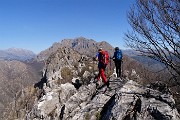
[[[0,49],[39,53],[54,42],[85,37],[125,48],[134,0],[0,0]]]

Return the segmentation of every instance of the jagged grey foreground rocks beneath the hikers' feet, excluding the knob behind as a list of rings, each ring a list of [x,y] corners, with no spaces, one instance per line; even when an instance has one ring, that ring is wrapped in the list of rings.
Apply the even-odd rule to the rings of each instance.
[[[45,93],[26,119],[46,120],[178,120],[174,100],[136,82],[111,78],[110,87],[96,89],[95,83],[79,90],[70,84]]]

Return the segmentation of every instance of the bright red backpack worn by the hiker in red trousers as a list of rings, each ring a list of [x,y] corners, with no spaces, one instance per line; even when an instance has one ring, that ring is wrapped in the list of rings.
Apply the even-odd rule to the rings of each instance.
[[[107,51],[102,51],[100,54],[99,62],[103,65],[107,65],[109,63],[109,54]]]

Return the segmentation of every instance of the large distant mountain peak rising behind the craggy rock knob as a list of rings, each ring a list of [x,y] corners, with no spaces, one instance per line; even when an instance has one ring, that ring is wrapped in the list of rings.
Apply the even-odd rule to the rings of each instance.
[[[104,48],[112,56],[114,48],[107,42],[96,42],[93,39],[86,39],[84,37],[79,37],[75,39],[64,39],[61,42],[54,43],[50,48],[40,52],[37,55],[39,61],[46,60],[51,53],[57,51],[58,48],[67,47],[78,51],[81,54],[94,56],[99,48]]]

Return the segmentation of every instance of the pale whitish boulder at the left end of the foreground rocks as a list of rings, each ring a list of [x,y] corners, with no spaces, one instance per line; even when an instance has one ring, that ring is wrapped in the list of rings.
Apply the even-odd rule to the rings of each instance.
[[[28,113],[27,119],[50,119],[55,113],[59,114],[61,105],[75,92],[76,89],[70,83],[61,84],[60,87],[48,91]]]

